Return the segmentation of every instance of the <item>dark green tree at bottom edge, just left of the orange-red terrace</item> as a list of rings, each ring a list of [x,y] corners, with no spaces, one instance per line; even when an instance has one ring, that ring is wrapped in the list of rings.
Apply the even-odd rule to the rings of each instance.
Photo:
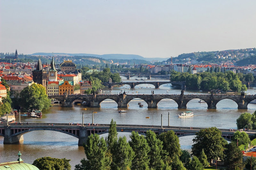
[[[226,170],[244,169],[243,153],[240,151],[239,147],[236,146],[235,142],[226,145],[224,154],[225,157],[223,160]]]

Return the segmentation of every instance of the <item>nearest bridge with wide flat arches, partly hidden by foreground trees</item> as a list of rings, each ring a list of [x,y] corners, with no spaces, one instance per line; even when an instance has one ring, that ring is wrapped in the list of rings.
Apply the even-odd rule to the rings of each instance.
[[[0,136],[4,137],[4,144],[17,144],[24,140],[23,134],[31,131],[58,131],[78,138],[78,145],[83,146],[86,143],[88,136],[91,134],[108,133],[109,124],[99,124],[98,126],[77,126],[68,124],[54,124],[52,123],[29,123],[22,125],[0,125]],[[166,131],[174,131],[178,137],[195,135],[196,132],[205,128],[190,129],[190,127],[176,127],[176,126],[151,126],[151,125],[131,125],[131,124],[117,124],[118,132],[132,132],[137,131],[139,134],[145,135],[148,130],[154,131],[156,134],[161,134]],[[222,137],[226,140],[231,140],[235,131],[229,129],[219,129],[222,132]],[[253,136],[256,130],[246,131],[249,136]]]

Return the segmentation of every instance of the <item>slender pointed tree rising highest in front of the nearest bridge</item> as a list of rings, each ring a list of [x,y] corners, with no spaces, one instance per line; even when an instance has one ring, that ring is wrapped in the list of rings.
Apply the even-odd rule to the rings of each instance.
[[[108,130],[108,138],[107,138],[107,144],[108,144],[108,149],[112,154],[114,154],[113,147],[117,143],[117,131],[116,131],[116,121],[113,119],[111,120],[111,123],[109,125],[109,130]]]

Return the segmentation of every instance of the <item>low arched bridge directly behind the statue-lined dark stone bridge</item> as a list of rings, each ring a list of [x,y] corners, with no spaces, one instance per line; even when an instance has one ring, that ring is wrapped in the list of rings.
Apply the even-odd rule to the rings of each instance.
[[[108,88],[113,88],[113,86],[116,85],[123,85],[123,84],[127,84],[129,86],[131,86],[131,88],[133,89],[135,86],[139,85],[139,84],[153,84],[155,86],[156,89],[159,89],[159,86],[163,85],[163,84],[172,84],[172,85],[179,85],[181,86],[181,89],[185,89],[186,85],[185,85],[186,81],[141,81],[141,82],[120,82],[120,83],[102,83],[102,85],[104,86],[108,86]]]

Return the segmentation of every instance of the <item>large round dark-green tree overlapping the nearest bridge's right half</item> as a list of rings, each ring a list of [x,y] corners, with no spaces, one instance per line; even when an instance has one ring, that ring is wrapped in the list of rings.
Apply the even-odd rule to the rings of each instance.
[[[224,146],[227,144],[227,141],[221,137],[221,131],[216,127],[196,132],[193,142],[195,143],[192,145],[193,155],[199,156],[202,149],[204,149],[208,159],[223,158]]]

